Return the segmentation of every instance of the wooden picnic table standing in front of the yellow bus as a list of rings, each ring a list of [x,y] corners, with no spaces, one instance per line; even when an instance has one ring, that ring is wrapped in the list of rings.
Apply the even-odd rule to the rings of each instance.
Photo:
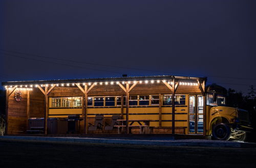
[[[123,131],[123,128],[126,127],[126,120],[117,120],[121,122],[121,125],[115,125],[118,129],[118,133],[121,132],[121,129]],[[129,124],[129,128],[136,128],[138,127],[140,129],[140,134],[147,134],[151,133],[151,127],[150,127],[150,122],[154,120],[129,120],[131,122]],[[133,125],[134,123],[138,123],[139,125]]]

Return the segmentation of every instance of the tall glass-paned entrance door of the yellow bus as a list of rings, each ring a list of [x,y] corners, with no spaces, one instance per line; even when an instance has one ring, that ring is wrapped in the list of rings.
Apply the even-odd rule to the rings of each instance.
[[[189,95],[188,133],[204,133],[204,99],[203,95]]]

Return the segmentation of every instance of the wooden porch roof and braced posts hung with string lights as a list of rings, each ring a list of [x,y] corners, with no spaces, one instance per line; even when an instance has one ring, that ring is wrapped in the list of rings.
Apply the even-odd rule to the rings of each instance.
[[[203,95],[204,99],[204,116],[205,115],[205,107],[206,107],[206,98],[205,98],[205,77],[183,77],[183,76],[146,76],[146,77],[118,77],[118,78],[98,78],[98,79],[74,79],[74,80],[44,80],[44,81],[14,81],[14,82],[3,82],[2,85],[6,86],[6,116],[8,117],[8,100],[9,96],[14,92],[18,86],[34,86],[38,88],[42,94],[45,96],[45,134],[47,134],[47,119],[49,118],[49,94],[51,91],[57,86],[61,87],[63,85],[72,87],[78,87],[82,92],[82,118],[84,119],[84,134],[88,133],[88,117],[87,117],[87,108],[88,108],[88,94],[90,91],[97,85],[102,83],[116,83],[126,95],[126,133],[129,132],[129,95],[130,92],[140,83],[141,81],[149,82],[149,81],[157,81],[162,82],[172,93],[172,133],[175,134],[175,94],[179,86],[181,85],[183,80],[192,80],[195,81]],[[168,81],[168,82],[167,82]],[[71,83],[71,84],[70,84]],[[99,84],[100,83],[100,84]],[[11,87],[10,87],[11,86]],[[8,88],[9,87],[9,88]],[[30,91],[27,90],[28,99],[27,99],[27,116],[29,117],[29,104]],[[161,103],[159,103],[159,126],[161,126]],[[123,96],[121,97],[121,116],[123,117]],[[8,124],[8,122],[7,122]],[[7,129],[7,126],[6,126]],[[6,130],[7,132],[7,130]],[[205,134],[205,117],[204,117],[204,134]]]

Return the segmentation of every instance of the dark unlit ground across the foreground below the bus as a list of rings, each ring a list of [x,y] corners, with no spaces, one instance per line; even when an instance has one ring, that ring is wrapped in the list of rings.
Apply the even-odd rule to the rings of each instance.
[[[255,167],[256,149],[0,140],[1,167]]]

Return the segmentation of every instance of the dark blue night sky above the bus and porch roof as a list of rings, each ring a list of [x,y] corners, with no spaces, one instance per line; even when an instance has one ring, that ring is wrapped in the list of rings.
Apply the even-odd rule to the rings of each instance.
[[[256,1],[2,1],[0,81],[148,75],[256,86]]]

